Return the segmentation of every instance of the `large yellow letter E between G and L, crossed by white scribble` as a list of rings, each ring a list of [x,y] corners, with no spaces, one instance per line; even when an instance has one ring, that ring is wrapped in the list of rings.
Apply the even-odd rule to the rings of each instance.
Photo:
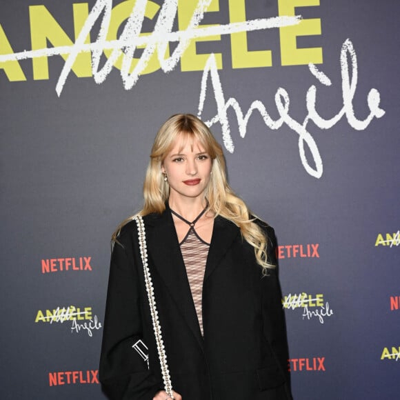
[[[179,30],[186,30],[188,24],[194,14],[194,9],[197,6],[198,1],[194,0],[179,0],[178,1],[178,23]],[[207,9],[208,12],[219,11],[219,0],[212,0],[210,6]],[[199,28],[206,28],[208,26],[215,25],[201,25]],[[181,71],[201,71],[206,66],[206,62],[210,54],[197,54],[196,43],[199,41],[217,41],[221,40],[221,35],[215,34],[207,37],[200,37],[191,39],[188,47],[181,56]],[[215,59],[217,61],[217,68],[222,68],[222,56],[221,53],[215,53]]]

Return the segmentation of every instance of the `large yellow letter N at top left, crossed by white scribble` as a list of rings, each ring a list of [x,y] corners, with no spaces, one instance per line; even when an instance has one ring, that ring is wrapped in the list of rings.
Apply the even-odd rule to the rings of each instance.
[[[83,24],[88,18],[88,3],[74,3],[74,34],[75,39],[79,36],[79,32],[83,28]],[[52,14],[45,6],[30,6],[30,40],[32,50],[40,50],[47,48],[47,41],[50,41],[54,47],[72,46],[73,43],[66,32],[61,28],[59,23],[54,19]],[[85,43],[90,43],[90,34],[86,38]],[[68,54],[61,54],[64,60],[68,58]],[[49,79],[48,74],[48,57],[36,57],[32,59],[33,79]],[[77,55],[72,71],[77,77],[92,76],[92,57],[90,52],[81,52]]]

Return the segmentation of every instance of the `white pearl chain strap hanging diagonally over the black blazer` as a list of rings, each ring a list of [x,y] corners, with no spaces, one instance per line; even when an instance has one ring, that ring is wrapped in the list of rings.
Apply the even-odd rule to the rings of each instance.
[[[150,314],[152,316],[154,336],[155,336],[156,343],[157,343],[157,351],[159,353],[161,373],[163,374],[164,390],[166,391],[166,393],[168,394],[168,396],[171,399],[174,399],[174,397],[172,396],[172,383],[171,383],[171,377],[170,377],[170,370],[168,370],[168,364],[167,364],[167,354],[166,354],[166,350],[164,348],[163,337],[161,334],[161,325],[159,323],[159,314],[157,312],[156,300],[154,298],[154,289],[153,289],[153,284],[152,284],[152,278],[150,277],[150,269],[148,268],[146,230],[144,228],[143,218],[140,215],[138,215],[134,220],[137,223],[137,233],[139,236],[140,255],[141,255],[141,261],[143,263],[143,272],[144,272],[144,279],[145,279],[145,283],[146,283],[146,292],[148,295]]]

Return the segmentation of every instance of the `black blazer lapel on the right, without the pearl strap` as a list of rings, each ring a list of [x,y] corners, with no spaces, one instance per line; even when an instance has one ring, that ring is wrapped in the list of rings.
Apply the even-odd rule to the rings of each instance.
[[[208,250],[208,258],[206,264],[206,273],[204,275],[204,283],[210,277],[219,261],[232,246],[232,242],[240,234],[240,229],[233,222],[223,217],[217,217],[214,220],[214,229],[212,230],[212,238],[210,250]],[[204,284],[203,283],[203,284]]]

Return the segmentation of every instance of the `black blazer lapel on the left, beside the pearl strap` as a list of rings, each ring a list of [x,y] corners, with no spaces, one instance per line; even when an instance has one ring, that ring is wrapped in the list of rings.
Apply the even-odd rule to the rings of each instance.
[[[147,239],[149,257],[151,257],[154,267],[168,288],[175,306],[181,312],[183,319],[188,323],[190,330],[202,347],[203,341],[199,321],[194,308],[177,232],[168,206],[163,214],[146,218],[145,221],[146,225],[149,226]]]

